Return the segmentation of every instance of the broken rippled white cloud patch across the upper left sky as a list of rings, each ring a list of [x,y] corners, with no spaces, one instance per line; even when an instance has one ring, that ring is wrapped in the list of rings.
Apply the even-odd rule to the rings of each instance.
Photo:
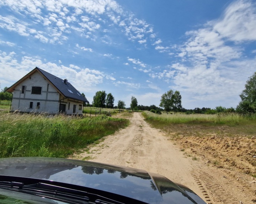
[[[32,24],[36,22],[39,27],[42,25],[40,29],[45,34],[41,33],[41,35],[45,39],[43,40],[42,36],[39,35],[32,35],[32,37],[41,39],[44,43],[58,42],[62,44],[69,37],[66,33],[71,33],[74,30],[78,32],[78,35],[96,40],[97,35],[94,35],[94,33],[101,32],[99,29],[106,26],[108,21],[119,24],[120,31],[124,32],[129,40],[137,40],[139,44],[145,44],[148,37],[155,38],[156,36],[153,33],[152,26],[141,19],[135,18],[132,12],[124,12],[122,7],[113,0],[27,0],[7,1],[5,5],[9,6],[22,18],[30,16],[33,19]],[[104,15],[104,18],[101,15]],[[108,16],[108,19],[105,16]],[[2,16],[3,18],[4,16]],[[105,23],[105,25],[102,23]],[[15,30],[23,36],[29,35],[27,29],[31,26],[24,24],[22,20],[20,22],[1,23],[0,17],[0,27],[11,31]],[[106,28],[102,28],[102,30],[104,29]],[[55,32],[59,32],[61,35],[57,37],[57,35],[54,35]]]

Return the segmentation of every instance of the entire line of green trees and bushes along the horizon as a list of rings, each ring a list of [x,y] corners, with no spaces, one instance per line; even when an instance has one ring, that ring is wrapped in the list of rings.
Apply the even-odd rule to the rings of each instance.
[[[6,90],[5,87],[0,92],[0,100],[11,100],[12,95]],[[82,93],[83,96],[84,93]],[[111,93],[106,94],[105,91],[97,91],[93,97],[92,104],[87,104],[86,106],[94,106],[98,108],[118,108],[118,109],[131,109],[133,111],[151,111],[154,113],[161,113],[161,111],[166,111],[167,114],[173,111],[174,114],[177,112],[185,112],[187,114],[215,114],[215,113],[239,113],[239,114],[255,114],[256,113],[256,72],[249,77],[246,81],[245,89],[239,95],[241,101],[236,108],[225,108],[222,106],[217,106],[215,109],[211,108],[194,108],[185,109],[181,105],[181,95],[179,91],[169,90],[161,96],[160,107],[155,105],[143,106],[138,105],[137,98],[131,97],[130,107],[126,108],[124,101],[119,100],[117,106],[114,106],[114,97]]]

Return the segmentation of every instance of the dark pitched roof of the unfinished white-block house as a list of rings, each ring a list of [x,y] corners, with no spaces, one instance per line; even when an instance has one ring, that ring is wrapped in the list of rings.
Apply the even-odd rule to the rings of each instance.
[[[46,71],[44,71],[43,69],[40,69],[38,67],[34,68],[30,73],[34,73],[36,70],[38,70],[39,72],[41,72],[44,77],[46,77],[50,83],[53,84],[53,86],[55,86],[55,88],[61,93],[63,94],[63,96],[65,96],[66,98],[72,98],[78,101],[82,101],[85,103],[89,103],[89,101],[87,101],[87,99],[82,96],[80,94],[80,92],[78,90],[75,89],[74,86],[72,86],[68,80],[66,80],[64,83],[63,79],[60,79],[56,76],[54,76],[53,74],[50,74]],[[30,75],[30,73],[28,73],[27,75]],[[26,77],[26,76],[25,76]],[[23,79],[25,78],[23,77],[22,79],[20,79],[19,81],[23,81]],[[19,81],[17,81],[14,85],[16,85]],[[14,86],[13,85],[13,86]],[[12,87],[12,86],[11,86]],[[11,87],[9,88],[11,90]],[[8,90],[7,90],[8,91]]]

